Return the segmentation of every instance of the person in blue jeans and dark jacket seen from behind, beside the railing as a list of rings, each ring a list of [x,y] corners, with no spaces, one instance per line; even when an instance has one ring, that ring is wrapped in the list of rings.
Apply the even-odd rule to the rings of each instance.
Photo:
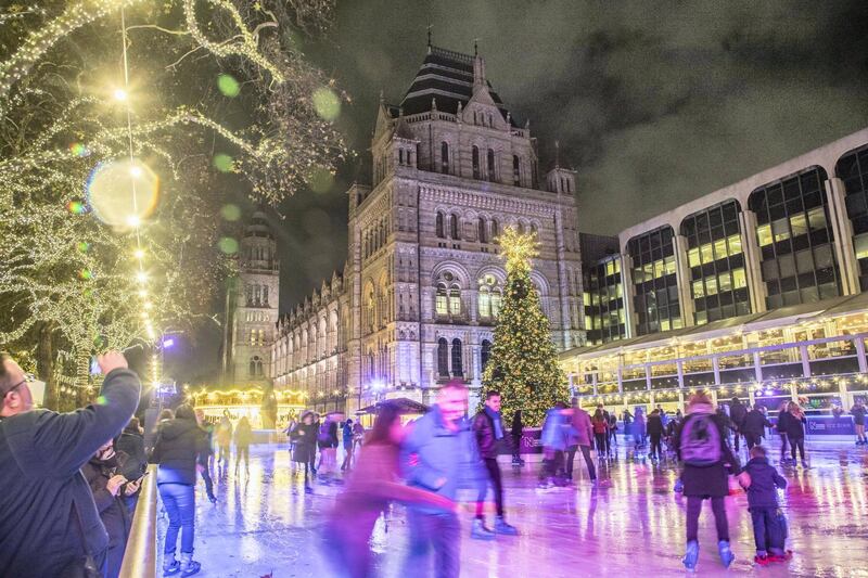
[[[207,436],[196,423],[190,406],[175,410],[175,419],[159,426],[151,460],[159,464],[157,490],[169,516],[163,545],[163,575],[196,574],[202,565],[193,560],[195,542],[196,465],[207,460]],[[181,560],[175,557],[178,535],[181,536]]]

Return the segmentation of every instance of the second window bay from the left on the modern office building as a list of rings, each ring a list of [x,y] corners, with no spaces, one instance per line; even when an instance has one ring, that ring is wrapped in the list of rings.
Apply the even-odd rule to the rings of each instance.
[[[634,236],[627,243],[627,252],[633,258],[637,335],[680,329],[681,308],[672,227]]]

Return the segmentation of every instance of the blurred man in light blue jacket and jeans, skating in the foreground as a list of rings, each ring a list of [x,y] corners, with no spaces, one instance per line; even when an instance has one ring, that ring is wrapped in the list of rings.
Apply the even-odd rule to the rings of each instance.
[[[437,391],[437,403],[418,419],[401,445],[401,465],[411,487],[455,501],[460,488],[486,483],[476,441],[464,415],[468,388],[458,381]],[[362,450],[363,451],[363,450]],[[431,505],[407,509],[410,540],[400,576],[419,576],[433,551],[439,578],[460,570],[461,526],[455,511]]]

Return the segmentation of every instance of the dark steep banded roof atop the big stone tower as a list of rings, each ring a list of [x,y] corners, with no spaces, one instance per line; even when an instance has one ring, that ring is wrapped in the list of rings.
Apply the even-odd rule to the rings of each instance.
[[[458,112],[458,103],[467,106],[473,97],[473,59],[470,54],[429,47],[422,66],[416,74],[407,94],[400,103],[405,115],[431,111],[431,99],[437,100],[437,110],[450,114]],[[507,106],[486,80],[492,100],[507,118]],[[397,116],[397,115],[396,115]],[[514,118],[512,119],[514,125]]]

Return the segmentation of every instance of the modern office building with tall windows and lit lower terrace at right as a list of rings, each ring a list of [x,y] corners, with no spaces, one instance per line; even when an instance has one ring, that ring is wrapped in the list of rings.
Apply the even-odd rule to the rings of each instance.
[[[868,129],[630,227],[616,252],[582,239],[588,344],[561,359],[586,401],[674,409],[703,387],[821,412],[868,393]]]

